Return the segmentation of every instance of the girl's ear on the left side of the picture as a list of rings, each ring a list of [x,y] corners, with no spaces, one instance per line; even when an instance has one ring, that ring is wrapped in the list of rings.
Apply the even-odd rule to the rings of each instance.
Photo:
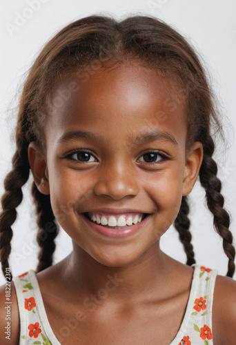
[[[28,159],[39,192],[44,195],[50,194],[46,160],[36,141],[32,141],[28,147]]]

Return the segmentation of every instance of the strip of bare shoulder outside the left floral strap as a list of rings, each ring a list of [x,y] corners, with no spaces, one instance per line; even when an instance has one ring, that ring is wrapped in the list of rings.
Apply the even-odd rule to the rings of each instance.
[[[0,344],[19,345],[20,324],[17,295],[14,289],[14,283],[11,282],[9,286],[3,285],[0,287]],[[6,303],[8,302],[6,300],[6,287],[8,287],[8,292],[10,291],[11,303]],[[9,336],[9,333],[10,338],[6,338]]]

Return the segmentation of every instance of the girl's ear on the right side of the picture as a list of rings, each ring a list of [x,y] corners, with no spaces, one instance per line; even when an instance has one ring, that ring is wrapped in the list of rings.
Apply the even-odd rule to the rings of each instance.
[[[183,196],[188,195],[193,189],[193,186],[195,185],[195,181],[197,180],[197,176],[199,174],[202,159],[202,144],[199,141],[195,141],[193,146],[188,151],[188,155],[186,157],[186,164],[184,169],[184,183],[182,190]]]

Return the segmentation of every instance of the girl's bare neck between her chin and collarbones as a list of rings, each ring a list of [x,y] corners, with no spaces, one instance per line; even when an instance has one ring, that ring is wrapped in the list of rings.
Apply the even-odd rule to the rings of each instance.
[[[63,264],[64,281],[71,282],[70,286],[75,292],[79,290],[80,296],[109,295],[110,302],[119,304],[151,297],[154,291],[163,290],[169,279],[168,257],[159,249],[159,243],[124,267],[104,266],[78,247],[74,247]]]

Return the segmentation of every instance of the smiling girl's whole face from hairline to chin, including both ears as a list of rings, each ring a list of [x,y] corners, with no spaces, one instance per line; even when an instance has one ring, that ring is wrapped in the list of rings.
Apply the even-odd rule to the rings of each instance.
[[[30,165],[75,249],[101,264],[124,266],[154,248],[197,179],[201,144],[186,153],[185,103],[168,106],[175,92],[141,66],[52,90],[46,155],[31,143]]]

